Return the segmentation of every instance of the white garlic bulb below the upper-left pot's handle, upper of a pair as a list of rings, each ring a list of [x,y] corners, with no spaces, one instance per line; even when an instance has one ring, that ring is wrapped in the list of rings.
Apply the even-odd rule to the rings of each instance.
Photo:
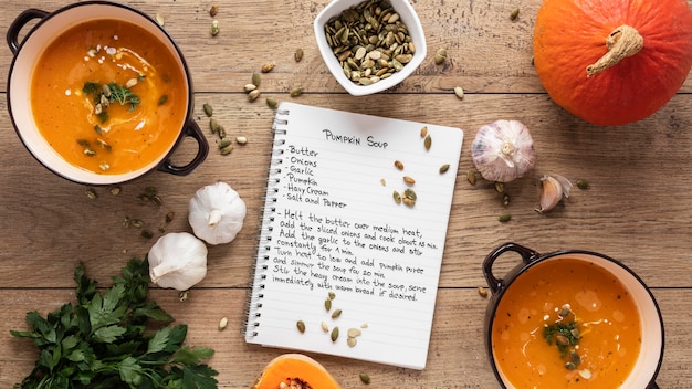
[[[188,221],[195,235],[207,243],[229,243],[243,227],[245,211],[245,203],[231,186],[216,182],[190,199]]]

